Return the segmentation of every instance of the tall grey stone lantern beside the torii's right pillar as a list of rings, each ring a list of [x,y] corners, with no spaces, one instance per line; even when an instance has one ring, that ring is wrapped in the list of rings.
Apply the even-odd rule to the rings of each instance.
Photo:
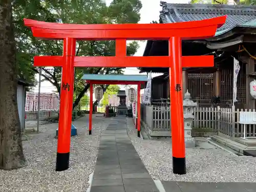
[[[183,115],[184,115],[184,131],[185,131],[185,146],[186,148],[194,148],[196,146],[195,139],[191,136],[192,122],[194,119],[194,111],[197,106],[197,102],[190,100],[190,93],[184,94],[183,100]]]

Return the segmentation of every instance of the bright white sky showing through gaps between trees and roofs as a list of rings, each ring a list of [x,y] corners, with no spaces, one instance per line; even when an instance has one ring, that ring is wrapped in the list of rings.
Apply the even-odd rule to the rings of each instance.
[[[112,0],[105,0],[106,4],[109,5]],[[167,3],[188,3],[188,0],[165,0]],[[148,24],[151,23],[153,20],[159,20],[159,11],[162,9],[160,6],[160,0],[141,0],[142,3],[142,8],[140,10],[140,22],[139,24]],[[146,41],[144,42],[139,42],[140,48],[136,52],[135,56],[142,56],[145,46],[146,46]],[[124,70],[124,74],[127,75],[138,75],[139,70],[137,68],[126,68]],[[141,73],[142,75],[143,73]],[[152,77],[158,76],[159,74],[152,74]],[[38,74],[36,75],[37,80],[39,79]],[[121,89],[123,87],[121,86]],[[55,91],[55,87],[52,86],[52,84],[49,81],[44,81],[41,83],[41,93],[51,93]],[[35,92],[38,92],[38,84],[34,88]]]

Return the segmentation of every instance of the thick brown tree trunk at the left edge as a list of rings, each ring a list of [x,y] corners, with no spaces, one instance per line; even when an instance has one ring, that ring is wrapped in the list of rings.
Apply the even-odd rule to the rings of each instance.
[[[17,71],[11,0],[0,1],[0,168],[25,163],[17,106]]]

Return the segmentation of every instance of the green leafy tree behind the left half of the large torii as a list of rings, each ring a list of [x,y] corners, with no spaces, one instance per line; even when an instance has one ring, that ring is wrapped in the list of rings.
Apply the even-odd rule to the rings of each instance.
[[[38,73],[32,66],[34,55],[62,55],[62,41],[41,40],[32,36],[31,30],[24,26],[23,18],[43,20],[46,22],[75,24],[120,24],[138,23],[140,0],[114,0],[106,6],[101,0],[16,0],[13,9],[15,39],[17,41],[17,62],[21,74],[28,76]],[[127,45],[127,55],[133,55],[138,49],[138,42]],[[115,41],[78,41],[77,56],[113,56]],[[42,68],[42,76],[56,87],[60,94],[61,68]],[[90,84],[81,80],[83,73],[122,74],[120,68],[76,68],[75,101],[77,106]],[[106,86],[103,87],[106,90]]]

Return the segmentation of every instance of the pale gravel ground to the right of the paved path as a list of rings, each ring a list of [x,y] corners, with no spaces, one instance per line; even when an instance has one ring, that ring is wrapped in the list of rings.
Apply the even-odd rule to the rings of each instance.
[[[136,137],[132,119],[127,118],[128,135],[153,179],[190,182],[256,182],[256,158],[238,157],[216,148],[186,149],[187,174],[173,174],[170,140],[142,140]]]

